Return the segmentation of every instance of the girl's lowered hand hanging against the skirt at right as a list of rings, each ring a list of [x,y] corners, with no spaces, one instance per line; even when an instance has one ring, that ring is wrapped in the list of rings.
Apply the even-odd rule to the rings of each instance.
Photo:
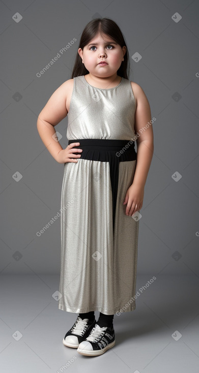
[[[143,207],[144,190],[144,186],[139,186],[133,183],[129,186],[123,203],[123,205],[127,203],[126,215],[132,216],[136,211]]]

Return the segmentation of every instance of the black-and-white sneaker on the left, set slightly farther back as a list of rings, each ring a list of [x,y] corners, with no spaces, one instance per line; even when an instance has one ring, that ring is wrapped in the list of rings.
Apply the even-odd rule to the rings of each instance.
[[[81,319],[79,316],[72,328],[66,333],[63,344],[67,347],[77,349],[82,340],[84,340],[91,329],[95,326],[96,320],[89,321],[89,319]]]

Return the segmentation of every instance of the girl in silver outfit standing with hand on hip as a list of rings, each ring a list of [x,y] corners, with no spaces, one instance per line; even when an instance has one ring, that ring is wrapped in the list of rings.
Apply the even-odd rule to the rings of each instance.
[[[154,145],[149,102],[128,79],[128,62],[119,26],[92,20],[71,79],[37,121],[43,143],[64,164],[58,308],[78,316],[63,343],[87,356],[113,347],[114,315],[135,309],[139,210]],[[67,115],[63,149],[54,127]]]

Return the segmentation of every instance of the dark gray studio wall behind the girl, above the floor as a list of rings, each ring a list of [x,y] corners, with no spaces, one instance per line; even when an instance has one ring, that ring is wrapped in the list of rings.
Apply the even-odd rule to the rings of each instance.
[[[1,274],[60,273],[60,217],[37,232],[61,208],[64,165],[45,148],[37,117],[70,79],[84,26],[107,16],[121,27],[129,78],[144,89],[156,118],[137,273],[198,278],[198,2],[5,0],[0,10]],[[55,130],[65,148],[67,117]]]

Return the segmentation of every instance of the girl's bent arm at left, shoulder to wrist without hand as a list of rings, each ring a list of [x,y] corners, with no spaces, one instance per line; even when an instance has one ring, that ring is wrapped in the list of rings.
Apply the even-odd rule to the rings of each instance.
[[[68,111],[66,109],[66,94],[70,80],[64,82],[58,89],[54,91],[49,98],[47,104],[40,112],[37,120],[37,129],[39,135],[50,152],[51,156],[56,160],[58,153],[63,150],[55,134],[54,126],[64,119]]]

